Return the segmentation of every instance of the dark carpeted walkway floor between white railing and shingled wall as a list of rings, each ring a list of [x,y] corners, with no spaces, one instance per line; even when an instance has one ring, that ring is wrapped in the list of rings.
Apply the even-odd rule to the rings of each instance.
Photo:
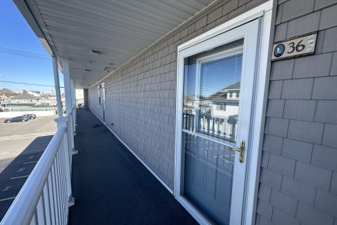
[[[69,224],[197,224],[93,113],[77,124]]]

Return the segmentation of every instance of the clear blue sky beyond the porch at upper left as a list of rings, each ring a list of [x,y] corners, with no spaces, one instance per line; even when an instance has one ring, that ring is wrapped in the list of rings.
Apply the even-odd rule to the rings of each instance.
[[[11,0],[0,1],[0,30],[0,81],[54,86],[52,61],[50,59],[35,59],[1,52],[1,49],[8,48],[48,56],[39,39]],[[60,83],[63,86],[63,75],[60,75]],[[54,89],[0,82],[1,88],[9,88],[15,92],[26,89],[49,93]]]

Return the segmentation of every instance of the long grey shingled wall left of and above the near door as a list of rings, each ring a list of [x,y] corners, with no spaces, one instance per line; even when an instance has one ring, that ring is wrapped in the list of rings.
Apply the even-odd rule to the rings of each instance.
[[[218,1],[104,81],[107,124],[172,190],[177,46],[265,1]],[[89,96],[90,109],[101,116],[97,87]]]

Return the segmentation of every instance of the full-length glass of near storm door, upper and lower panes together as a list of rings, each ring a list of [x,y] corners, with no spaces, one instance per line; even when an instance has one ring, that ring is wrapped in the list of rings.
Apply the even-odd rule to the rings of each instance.
[[[238,141],[243,39],[184,60],[184,195],[229,224]]]

